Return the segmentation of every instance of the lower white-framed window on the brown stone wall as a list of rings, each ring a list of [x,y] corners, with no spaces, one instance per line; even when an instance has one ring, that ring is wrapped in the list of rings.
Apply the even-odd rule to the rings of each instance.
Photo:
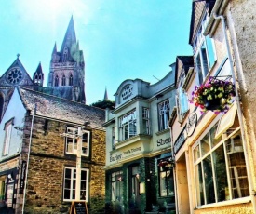
[[[64,169],[64,184],[63,184],[63,200],[72,201],[75,199],[76,191],[80,191],[80,199],[88,201],[88,169],[81,169],[80,190],[75,190],[76,183],[76,168],[65,167]]]

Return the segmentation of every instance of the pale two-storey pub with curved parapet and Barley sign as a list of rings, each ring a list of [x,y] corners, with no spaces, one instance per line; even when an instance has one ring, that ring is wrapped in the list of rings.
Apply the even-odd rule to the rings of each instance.
[[[106,112],[106,213],[175,209],[170,109],[175,105],[175,63],[154,85],[126,80]]]

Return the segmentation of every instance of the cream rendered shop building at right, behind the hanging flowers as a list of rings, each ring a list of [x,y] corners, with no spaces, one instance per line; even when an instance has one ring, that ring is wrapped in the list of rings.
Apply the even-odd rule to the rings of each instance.
[[[176,69],[177,94],[182,87],[188,99],[177,98],[189,107],[185,114],[177,111],[169,123],[177,213],[256,213],[255,63],[251,55],[255,30],[249,27],[255,23],[254,7],[250,0],[192,3],[189,44],[194,63],[177,57],[182,63]],[[190,67],[187,73],[183,65]],[[233,83],[235,96],[222,112],[218,109],[223,102],[215,105],[218,99],[211,102],[208,97],[197,106],[188,102],[195,97],[195,86],[211,88],[211,80]]]

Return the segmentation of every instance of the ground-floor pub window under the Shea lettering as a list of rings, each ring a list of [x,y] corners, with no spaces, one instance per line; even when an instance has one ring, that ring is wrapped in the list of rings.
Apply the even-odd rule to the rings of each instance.
[[[158,161],[158,163],[161,160]],[[172,167],[158,166],[160,197],[174,196],[174,180]]]

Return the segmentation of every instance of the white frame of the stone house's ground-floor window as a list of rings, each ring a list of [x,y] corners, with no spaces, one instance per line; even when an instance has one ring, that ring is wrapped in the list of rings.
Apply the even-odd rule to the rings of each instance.
[[[66,178],[66,169],[70,169],[71,170],[71,178],[70,178],[70,188],[67,188],[67,183],[66,181],[69,180],[69,178]],[[81,201],[88,201],[88,175],[89,175],[89,169],[88,168],[81,168],[81,175],[83,172],[86,172],[86,178],[81,178],[82,181],[86,181],[86,187],[85,189],[82,189],[80,186],[80,200]],[[74,176],[76,175],[76,167],[64,167],[64,178],[63,178],[63,190],[62,190],[62,197],[63,197],[63,201],[74,201],[75,200],[75,182],[76,182],[76,177]],[[79,183],[81,184],[81,181],[79,181]],[[69,198],[65,198],[65,190],[70,190],[70,195]],[[86,192],[86,194],[84,194]],[[73,195],[72,195],[73,194]],[[84,195],[84,198],[82,198],[82,194]]]

